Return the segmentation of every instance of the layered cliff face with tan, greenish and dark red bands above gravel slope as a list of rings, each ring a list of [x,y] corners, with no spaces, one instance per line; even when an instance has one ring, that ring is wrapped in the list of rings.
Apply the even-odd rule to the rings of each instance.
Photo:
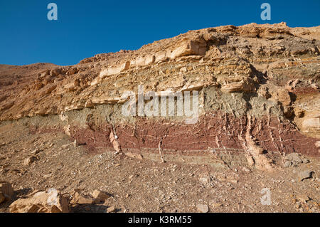
[[[272,152],[319,155],[319,50],[319,26],[252,23],[188,31],[73,66],[1,65],[0,119],[119,152],[242,152],[270,169]],[[124,116],[122,95],[138,96],[139,85],[144,94],[198,91],[197,121],[176,112]]]

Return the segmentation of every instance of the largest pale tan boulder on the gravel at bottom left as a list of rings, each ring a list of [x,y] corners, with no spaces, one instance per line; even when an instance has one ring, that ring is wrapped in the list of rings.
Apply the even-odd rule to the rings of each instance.
[[[40,191],[28,199],[18,199],[10,205],[11,213],[68,213],[68,200],[56,189]]]

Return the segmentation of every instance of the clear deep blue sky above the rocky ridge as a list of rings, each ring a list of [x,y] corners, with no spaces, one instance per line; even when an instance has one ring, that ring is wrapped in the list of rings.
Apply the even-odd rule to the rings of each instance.
[[[58,21],[47,19],[50,2],[58,5]],[[264,2],[271,5],[271,21],[260,19]],[[0,64],[73,65],[188,30],[281,21],[319,26],[320,1],[0,0]]]

